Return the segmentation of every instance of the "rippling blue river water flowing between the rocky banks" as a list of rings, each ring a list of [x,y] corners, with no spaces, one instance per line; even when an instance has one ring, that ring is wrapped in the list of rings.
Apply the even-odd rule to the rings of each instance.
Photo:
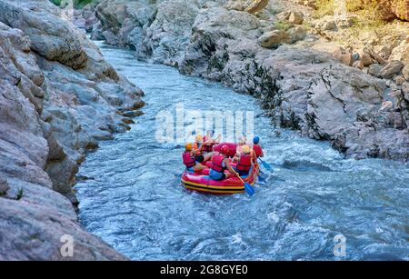
[[[97,44],[147,105],[131,131],[100,143],[81,165],[88,179],[75,189],[89,232],[134,260],[409,260],[407,164],[345,160],[329,144],[276,130],[251,96]],[[274,172],[264,170],[253,197],[180,185],[182,144],[155,139],[156,115],[176,104],[254,111]]]

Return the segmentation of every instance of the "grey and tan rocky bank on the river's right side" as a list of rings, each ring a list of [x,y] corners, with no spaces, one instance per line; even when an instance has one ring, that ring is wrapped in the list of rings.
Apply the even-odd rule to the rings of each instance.
[[[329,141],[347,157],[407,161],[407,38],[397,36],[386,58],[341,46],[331,55],[328,34],[353,21],[312,20],[307,32],[314,3],[294,2],[104,0],[88,6],[99,19],[88,30],[138,58],[254,95],[276,125]]]

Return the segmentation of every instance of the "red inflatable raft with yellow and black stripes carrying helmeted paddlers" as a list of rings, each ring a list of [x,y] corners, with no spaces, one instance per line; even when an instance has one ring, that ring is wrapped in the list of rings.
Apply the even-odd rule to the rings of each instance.
[[[217,149],[217,145],[214,146]],[[234,149],[235,150],[235,149]],[[207,166],[211,167],[211,162],[206,162]],[[235,164],[232,164],[235,166]],[[257,179],[259,166],[257,163],[250,169],[246,176],[242,176],[244,182],[253,185]],[[228,173],[228,171],[225,171]],[[204,170],[202,174],[189,172],[185,170],[182,174],[181,183],[189,190],[204,194],[239,194],[244,193],[244,184],[236,176],[230,175],[224,180],[213,180],[209,177],[209,170]]]

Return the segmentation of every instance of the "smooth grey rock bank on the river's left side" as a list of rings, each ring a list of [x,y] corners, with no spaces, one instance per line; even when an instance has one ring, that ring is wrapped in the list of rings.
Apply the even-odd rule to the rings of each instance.
[[[72,186],[143,92],[47,0],[0,0],[0,89],[0,260],[124,260],[77,222]]]

